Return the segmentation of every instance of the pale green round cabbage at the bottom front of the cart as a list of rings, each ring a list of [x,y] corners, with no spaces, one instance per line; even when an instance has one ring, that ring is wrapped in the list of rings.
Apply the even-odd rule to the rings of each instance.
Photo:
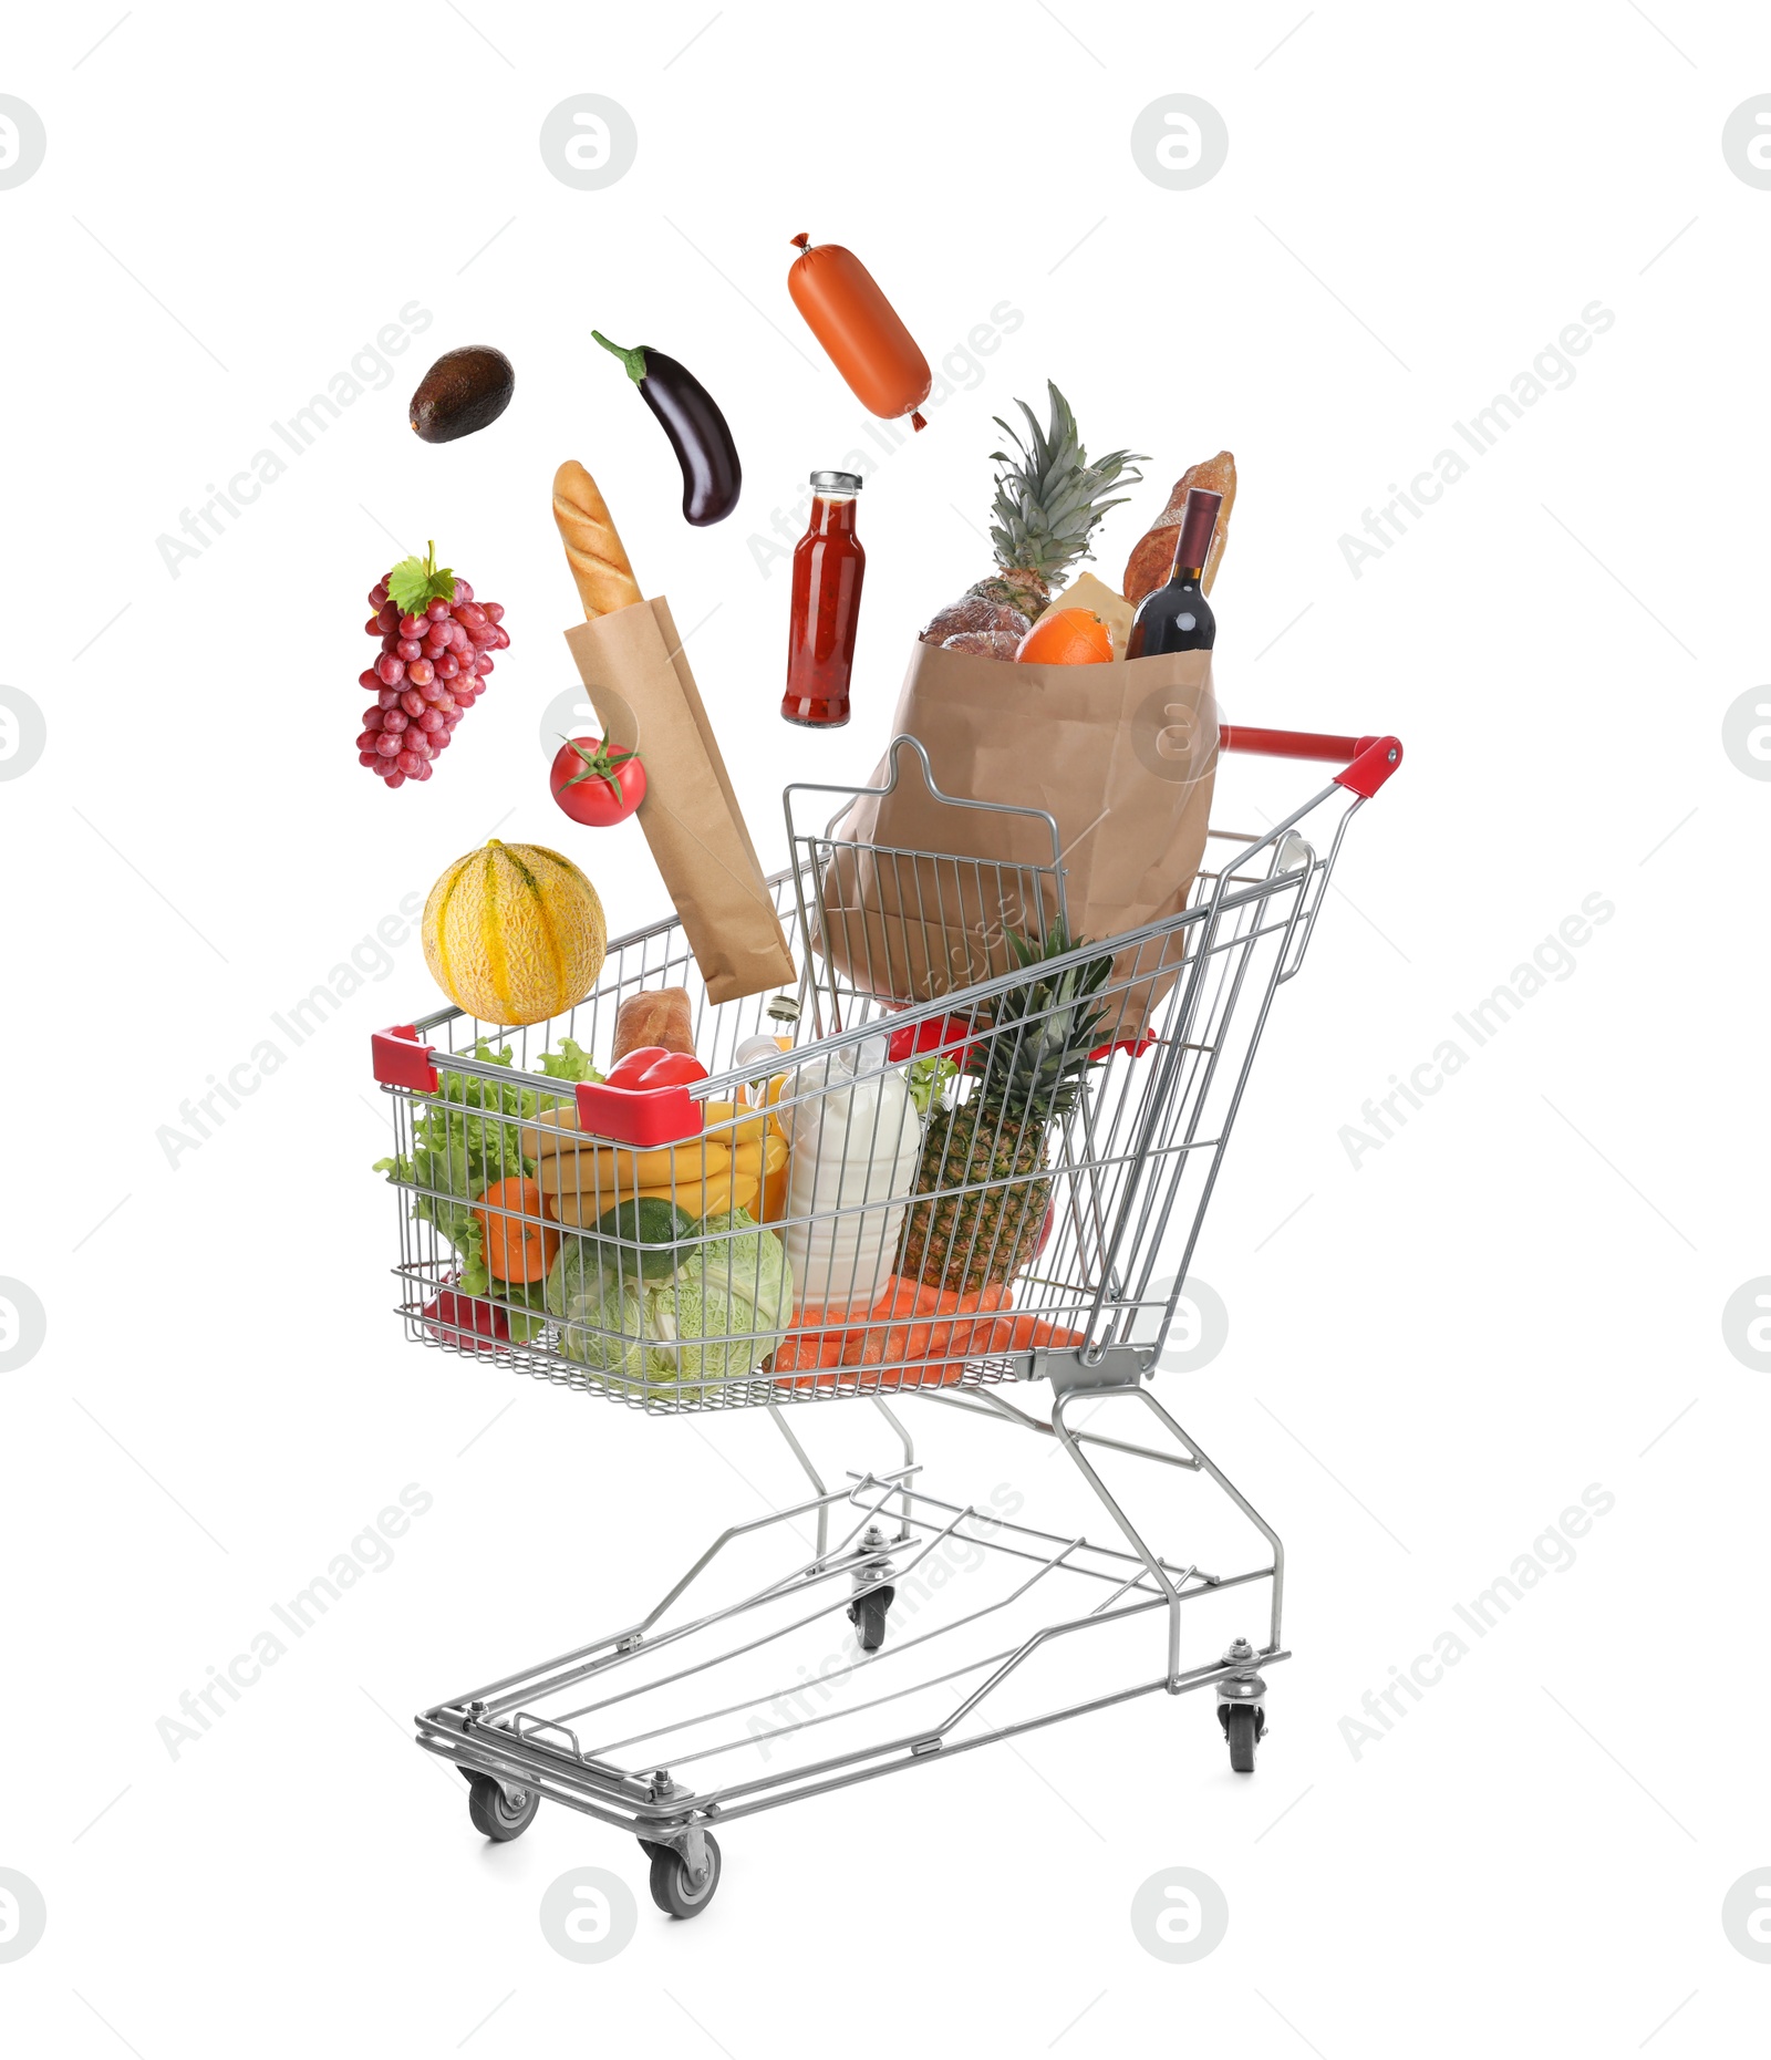
[[[793,1312],[780,1238],[743,1211],[704,1215],[706,1240],[661,1281],[622,1269],[620,1248],[566,1238],[548,1273],[560,1351],[634,1384],[741,1380],[768,1358]],[[756,1335],[752,1335],[756,1333]]]

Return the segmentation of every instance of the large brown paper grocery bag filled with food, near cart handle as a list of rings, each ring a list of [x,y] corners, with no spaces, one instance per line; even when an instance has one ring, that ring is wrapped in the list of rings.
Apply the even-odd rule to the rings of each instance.
[[[1019,665],[916,645],[892,719],[918,737],[935,785],[974,801],[1046,810],[1058,826],[1075,937],[1116,937],[1178,915],[1205,855],[1217,766],[1211,653],[1174,651],[1110,665]],[[890,779],[890,752],[869,785]],[[937,801],[904,764],[890,793],[863,795],[834,840],[910,853],[958,853],[995,867],[1050,865],[1042,824]],[[1001,873],[972,876],[974,900]],[[1003,929],[1030,931],[1017,906],[953,906],[951,865],[838,851],[824,878],[824,956],[857,985],[929,1001],[1007,972]],[[931,919],[929,911],[939,911]],[[1052,911],[1046,911],[1050,917]],[[1180,943],[1172,954],[1180,962]],[[1120,976],[1131,972],[1118,968]],[[1145,948],[1137,972],[1168,958]],[[1149,1009],[1174,974],[1139,981],[1126,1018]],[[1126,1024],[1120,1034],[1137,1026]]]

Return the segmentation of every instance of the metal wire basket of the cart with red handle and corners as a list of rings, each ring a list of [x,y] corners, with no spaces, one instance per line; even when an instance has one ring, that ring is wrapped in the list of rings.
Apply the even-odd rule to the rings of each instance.
[[[797,931],[791,995],[708,1003],[671,919],[616,939],[552,1022],[441,1009],[381,1032],[408,1337],[653,1413],[1147,1370],[1266,1011],[1351,812],[1400,754],[1223,744],[1355,762],[1264,834],[1213,832],[1223,857],[1209,847],[1188,906],[1118,937],[1069,937],[1040,812],[1048,865],[871,851],[1003,933],[1013,970],[939,999],[820,960],[840,853],[795,828],[789,795],[795,865],[772,892]],[[1318,851],[1299,826],[1330,801]],[[560,1077],[610,1051],[624,999],[669,985],[708,1079],[630,1096]],[[643,1199],[669,1213],[640,1228]]]

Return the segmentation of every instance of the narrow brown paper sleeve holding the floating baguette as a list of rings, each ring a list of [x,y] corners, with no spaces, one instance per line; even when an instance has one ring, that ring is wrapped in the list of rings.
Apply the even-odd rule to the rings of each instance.
[[[743,812],[682,651],[669,602],[577,622],[566,643],[610,744],[640,752],[638,820],[682,919],[708,1001],[737,1001],[799,974]]]

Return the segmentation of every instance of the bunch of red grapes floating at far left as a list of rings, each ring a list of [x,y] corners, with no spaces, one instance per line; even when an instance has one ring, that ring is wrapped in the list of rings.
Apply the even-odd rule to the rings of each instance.
[[[430,779],[437,752],[447,750],[455,725],[486,692],[492,653],[511,637],[498,626],[505,610],[476,602],[465,579],[455,581],[453,599],[402,616],[387,597],[391,577],[369,591],[375,614],[364,628],[381,639],[381,657],[358,676],[375,705],[362,711],[356,760],[389,787],[404,787],[408,779]]]

